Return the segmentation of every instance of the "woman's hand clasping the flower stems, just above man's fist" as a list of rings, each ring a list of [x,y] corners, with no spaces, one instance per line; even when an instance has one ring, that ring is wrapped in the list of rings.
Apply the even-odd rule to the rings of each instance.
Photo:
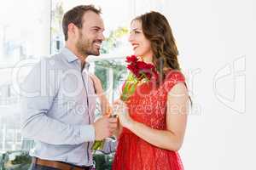
[[[117,114],[119,117],[119,123],[122,127],[131,128],[133,120],[131,119],[131,116],[129,115],[127,106],[122,100],[116,100],[113,103],[113,114]]]

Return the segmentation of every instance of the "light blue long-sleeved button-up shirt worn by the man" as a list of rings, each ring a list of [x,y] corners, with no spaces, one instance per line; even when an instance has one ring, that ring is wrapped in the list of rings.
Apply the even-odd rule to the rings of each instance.
[[[81,61],[68,49],[42,59],[20,86],[22,135],[35,140],[31,156],[90,166],[96,94]],[[115,150],[108,141],[102,151]]]

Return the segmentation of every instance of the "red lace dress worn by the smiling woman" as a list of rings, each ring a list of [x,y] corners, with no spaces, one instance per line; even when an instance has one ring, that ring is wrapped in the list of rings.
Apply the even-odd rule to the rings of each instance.
[[[181,72],[170,71],[158,88],[153,80],[138,86],[127,103],[131,118],[148,127],[166,130],[167,93],[177,82],[184,81]],[[183,170],[183,164],[177,152],[149,144],[124,127],[119,136],[113,170]]]

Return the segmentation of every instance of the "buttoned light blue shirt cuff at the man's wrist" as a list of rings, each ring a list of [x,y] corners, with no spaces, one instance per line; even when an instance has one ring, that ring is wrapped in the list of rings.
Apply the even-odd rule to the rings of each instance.
[[[80,138],[84,142],[95,141],[95,128],[93,125],[83,125],[80,127]]]

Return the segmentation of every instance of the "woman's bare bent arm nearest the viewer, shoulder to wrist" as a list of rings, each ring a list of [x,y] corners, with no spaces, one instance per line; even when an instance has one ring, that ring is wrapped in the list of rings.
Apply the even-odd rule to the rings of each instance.
[[[166,150],[179,150],[185,133],[189,95],[184,83],[177,83],[168,93],[166,127],[156,130],[140,122],[135,122],[129,114],[119,114],[119,121],[124,127],[150,144]]]

